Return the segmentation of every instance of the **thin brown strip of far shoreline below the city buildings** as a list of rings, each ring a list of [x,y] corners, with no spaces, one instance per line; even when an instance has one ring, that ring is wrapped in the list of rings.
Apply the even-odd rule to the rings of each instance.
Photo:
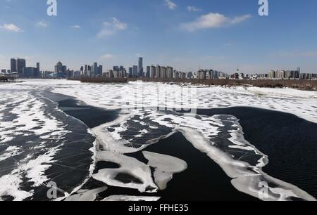
[[[290,88],[304,91],[317,91],[317,80],[298,80],[298,79],[287,79],[287,80],[275,80],[275,79],[140,79],[140,78],[103,78],[103,77],[85,77],[68,80],[77,80],[82,83],[128,83],[128,82],[159,82],[159,83],[173,83],[173,84],[191,84],[191,85],[206,85],[206,86],[256,86],[260,88]]]

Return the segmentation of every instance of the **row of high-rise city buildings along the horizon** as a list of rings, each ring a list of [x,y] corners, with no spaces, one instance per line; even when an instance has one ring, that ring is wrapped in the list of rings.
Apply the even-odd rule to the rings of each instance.
[[[70,70],[61,61],[54,66],[54,72],[41,71],[39,63],[36,67],[27,67],[23,58],[11,58],[11,70],[1,70],[1,74],[15,74],[21,78],[67,78],[67,77],[108,77],[108,78],[149,78],[149,79],[317,79],[313,73],[302,73],[300,67],[297,70],[271,70],[262,74],[244,74],[237,70],[233,74],[225,74],[217,70],[198,70],[197,72],[180,72],[170,66],[148,65],[146,72],[143,67],[144,58],[138,58],[138,65],[128,67],[113,66],[112,70],[104,71],[103,65],[81,66],[79,70]]]

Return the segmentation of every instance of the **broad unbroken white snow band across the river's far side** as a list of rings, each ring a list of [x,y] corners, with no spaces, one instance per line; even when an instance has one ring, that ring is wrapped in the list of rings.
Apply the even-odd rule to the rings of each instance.
[[[317,123],[317,91],[266,89],[258,87],[225,88],[181,87],[161,83],[82,84],[66,80],[28,80],[4,84],[1,89],[51,89],[54,93],[73,96],[89,105],[106,109],[134,107],[260,107],[288,112]]]

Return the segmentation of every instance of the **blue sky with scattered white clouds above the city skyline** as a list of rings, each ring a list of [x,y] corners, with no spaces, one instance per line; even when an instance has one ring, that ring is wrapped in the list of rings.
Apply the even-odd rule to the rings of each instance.
[[[317,72],[317,1],[268,0],[0,0],[0,68],[12,57],[39,61],[53,70],[58,60],[77,70],[98,62],[171,65],[245,73],[271,69]]]

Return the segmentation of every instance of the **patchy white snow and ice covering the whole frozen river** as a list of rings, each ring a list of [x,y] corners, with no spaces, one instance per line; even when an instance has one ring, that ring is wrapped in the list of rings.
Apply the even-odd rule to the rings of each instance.
[[[158,189],[156,184],[161,189],[166,188],[174,173],[186,169],[184,161],[176,157],[168,157],[168,155],[145,152],[144,155],[148,157],[149,164],[144,164],[124,154],[143,150],[147,147],[147,144],[156,143],[159,138],[179,131],[195,148],[206,153],[217,162],[230,178],[235,178],[232,185],[237,190],[256,196],[256,183],[265,178],[266,181],[274,183],[279,189],[271,188],[272,200],[275,200],[275,195],[280,196],[280,200],[287,200],[290,197],[313,200],[313,197],[303,190],[271,178],[261,171],[261,168],[268,162],[267,157],[244,140],[242,128],[235,117],[200,116],[197,118],[190,114],[182,116],[175,115],[175,113],[162,114],[162,112],[157,112],[156,107],[189,110],[192,114],[195,113],[197,108],[260,107],[291,113],[317,123],[316,91],[260,89],[256,87],[230,89],[220,86],[196,88],[194,86],[182,87],[172,84],[143,82],[82,84],[66,80],[27,80],[22,83],[0,85],[0,146],[5,147],[5,150],[0,152],[0,162],[22,154],[23,148],[19,145],[8,145],[8,143],[16,141],[19,136],[34,135],[42,140],[41,144],[37,145],[42,153],[20,159],[17,169],[0,176],[0,198],[3,195],[11,195],[15,200],[23,200],[32,196],[32,190],[20,190],[20,184],[23,183],[23,177],[25,176],[28,178],[28,182],[32,182],[34,186],[48,181],[48,178],[44,176],[44,171],[54,162],[53,157],[61,145],[48,146],[47,141],[59,140],[70,132],[67,131],[65,124],[45,111],[46,103],[42,98],[42,91],[73,96],[88,105],[111,110],[122,109],[122,112],[125,112],[116,121],[92,129],[92,133],[97,136],[98,144],[104,148],[104,150],[97,153],[97,160],[120,164],[119,169],[101,169],[92,176],[107,185],[135,188],[140,192],[144,192],[145,188],[149,186],[153,188],[152,192],[154,192]],[[138,119],[134,119],[135,116]],[[124,134],[129,130],[128,120],[142,127],[131,138]],[[246,164],[245,161],[232,158],[230,154],[228,156],[228,152],[219,150],[219,146],[213,142],[213,138],[216,138],[225,126],[223,120],[227,124],[232,123],[232,129],[225,131],[230,133],[231,136],[229,141],[232,144],[228,147],[231,150],[252,153],[259,157],[256,163]],[[107,128],[113,130],[107,131]],[[151,138],[153,133],[159,136],[149,140],[148,136],[150,135]],[[139,140],[149,142],[147,144],[142,143],[142,145]],[[139,143],[139,147],[133,145],[135,142]],[[170,165],[159,162],[158,158],[160,157],[166,157],[168,158],[166,162],[168,160],[174,161],[178,165],[172,168],[173,171],[168,172],[166,168],[170,169]],[[154,179],[151,178],[149,167],[156,168]],[[253,169],[256,174],[247,170],[249,168]],[[129,172],[132,176],[142,179],[143,183],[120,183],[120,181],[114,179],[116,174],[120,172]],[[87,198],[94,199],[96,193],[92,191],[87,193]],[[79,196],[82,197],[83,195],[80,194]],[[114,199],[118,198],[115,197]]]

